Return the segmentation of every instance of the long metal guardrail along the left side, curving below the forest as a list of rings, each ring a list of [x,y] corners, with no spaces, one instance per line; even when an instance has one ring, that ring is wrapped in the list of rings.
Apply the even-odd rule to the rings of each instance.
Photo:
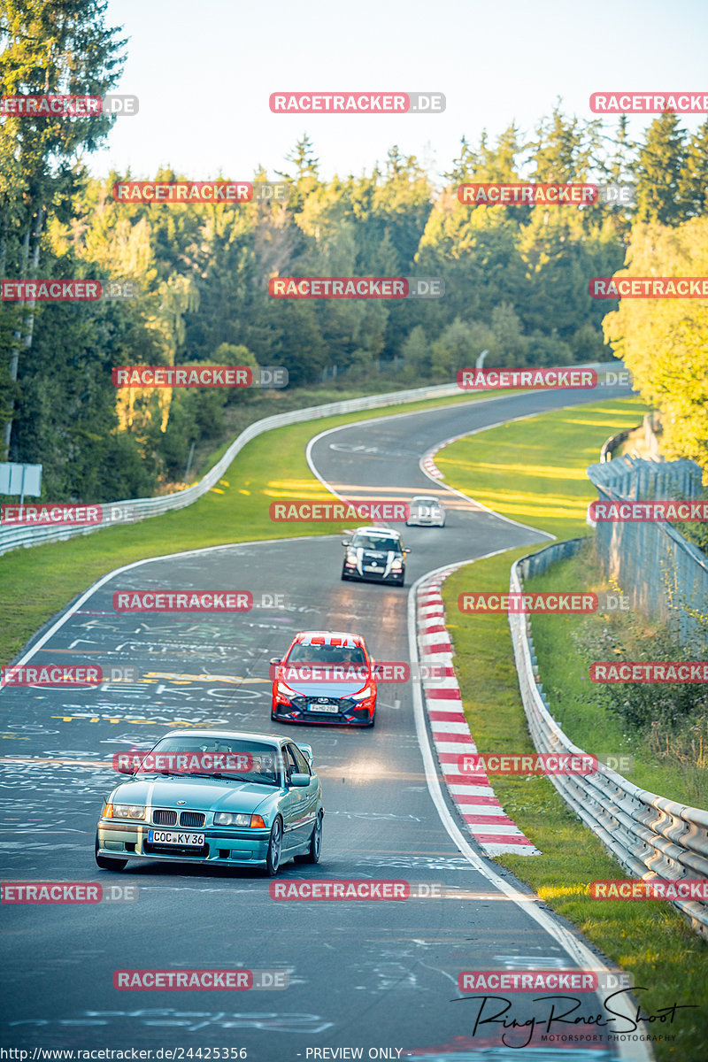
[[[0,528],[0,554],[20,546],[39,546],[49,542],[64,542],[79,534],[91,534],[101,528],[116,527],[120,524],[132,524],[149,516],[160,516],[175,509],[184,509],[210,491],[224,475],[234,458],[249,443],[252,439],[262,435],[273,428],[281,428],[289,424],[299,424],[304,421],[316,421],[325,416],[336,416],[340,413],[356,413],[360,410],[380,409],[385,406],[402,406],[407,402],[424,401],[427,398],[445,398],[460,395],[456,383],[442,383],[428,388],[414,388],[409,391],[393,391],[387,394],[365,395],[362,398],[346,398],[343,401],[327,402],[323,406],[309,406],[307,409],[290,410],[288,413],[276,413],[248,425],[234,440],[224,456],[217,462],[203,479],[183,491],[166,494],[157,498],[131,498],[126,501],[111,501],[103,504],[103,520],[90,526],[68,527],[54,525],[49,527],[11,526]],[[40,502],[41,504],[41,502]]]

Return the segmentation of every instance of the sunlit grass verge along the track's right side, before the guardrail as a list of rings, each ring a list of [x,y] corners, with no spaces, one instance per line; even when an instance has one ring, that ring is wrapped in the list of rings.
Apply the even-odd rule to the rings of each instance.
[[[585,512],[594,492],[586,466],[598,460],[608,435],[636,424],[642,412],[636,400],[558,410],[461,440],[442,450],[435,462],[450,485],[504,515],[571,538],[589,533]],[[463,615],[457,596],[506,589],[513,561],[531,551],[511,550],[478,561],[443,587],[465,714],[481,752],[533,752],[533,744],[506,616]],[[653,1032],[664,1039],[652,1047],[659,1062],[703,1062],[708,943],[669,905],[589,898],[588,883],[626,874],[548,778],[496,775],[490,781],[507,813],[542,853],[501,856],[498,861],[634,975],[635,984],[646,989],[637,992],[643,1014],[656,1014],[674,1003],[696,1007],[679,1011],[673,1025],[653,1023]],[[666,1039],[671,1035],[676,1039]]]

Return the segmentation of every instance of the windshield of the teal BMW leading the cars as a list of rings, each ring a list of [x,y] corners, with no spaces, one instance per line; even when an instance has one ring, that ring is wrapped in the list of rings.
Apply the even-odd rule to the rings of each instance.
[[[280,784],[280,750],[262,741],[185,734],[162,738],[151,752],[139,756],[137,774],[192,774]]]

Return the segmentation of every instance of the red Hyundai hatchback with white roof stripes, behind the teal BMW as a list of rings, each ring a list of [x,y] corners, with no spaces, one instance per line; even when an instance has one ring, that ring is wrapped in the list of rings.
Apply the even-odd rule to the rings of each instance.
[[[284,657],[271,661],[271,719],[373,726],[378,693],[374,664],[360,634],[300,631]]]

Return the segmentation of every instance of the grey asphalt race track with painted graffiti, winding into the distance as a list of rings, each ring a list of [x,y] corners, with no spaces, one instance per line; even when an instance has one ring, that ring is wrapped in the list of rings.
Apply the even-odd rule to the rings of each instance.
[[[603,397],[626,393],[607,390]],[[325,433],[311,446],[311,461],[339,493],[409,498],[443,490],[418,467],[434,444],[597,400],[592,392],[542,392],[397,415]],[[572,945],[580,941],[574,931],[480,856],[468,833],[461,851],[444,821],[459,829],[461,820],[452,805],[442,805],[445,798],[436,804],[431,795],[410,683],[381,688],[374,730],[286,731],[270,720],[267,662],[296,631],[353,630],[377,658],[408,661],[415,580],[547,537],[454,495],[449,504],[444,529],[402,529],[413,550],[402,588],[343,583],[339,536],[278,542],[274,525],[271,542],[166,556],[107,577],[22,653],[24,660],[34,648],[34,663],[99,663],[104,672],[137,666],[139,681],[85,691],[2,691],[2,878],[134,885],[138,897],[3,905],[4,1045],[239,1047],[255,1062],[296,1062],[325,1047],[450,1062],[633,1057],[603,1043],[601,1033],[584,1046],[556,1042],[525,1054],[501,1045],[499,1024],[473,1034],[480,1004],[462,998],[459,972],[577,967],[583,953]],[[247,589],[257,599],[284,594],[288,602],[269,607],[266,599],[251,612],[208,617],[114,612],[115,590],[157,587]],[[317,867],[286,864],[282,879],[404,879],[442,884],[450,893],[398,903],[275,902],[267,878],[245,870],[156,862],[99,872],[96,821],[117,777],[100,761],[168,729],[197,725],[275,729],[312,744],[324,786],[323,858]],[[117,969],[235,965],[288,971],[289,987],[121,992],[111,981]],[[529,1007],[517,995],[514,1016],[525,1020]],[[597,997],[586,994],[575,1016],[598,1012]],[[577,1029],[587,1026],[554,1031]],[[528,1035],[511,1030],[507,1044],[522,1045]]]

